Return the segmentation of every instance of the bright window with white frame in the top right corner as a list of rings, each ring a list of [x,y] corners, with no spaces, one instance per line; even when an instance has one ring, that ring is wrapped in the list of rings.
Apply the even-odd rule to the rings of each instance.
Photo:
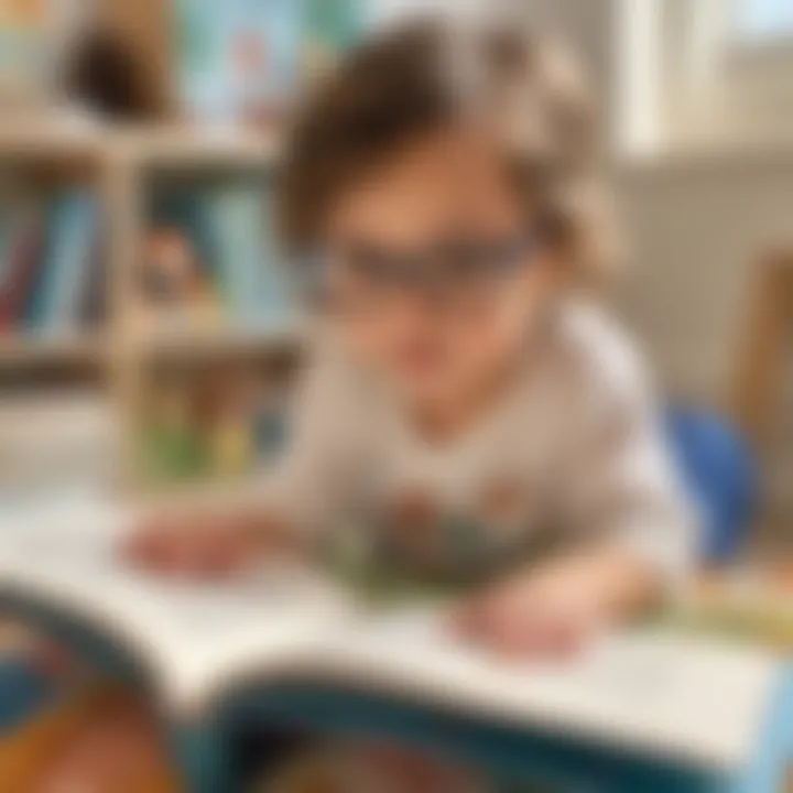
[[[620,148],[793,146],[793,0],[622,0]]]

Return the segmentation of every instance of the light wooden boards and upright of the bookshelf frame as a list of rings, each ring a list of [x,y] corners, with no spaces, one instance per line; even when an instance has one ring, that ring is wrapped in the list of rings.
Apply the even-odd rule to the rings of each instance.
[[[106,317],[97,329],[52,337],[14,332],[0,336],[0,381],[20,370],[74,368],[95,372],[97,388],[116,415],[119,432],[116,480],[122,491],[143,496],[138,436],[145,384],[155,366],[267,359],[300,350],[305,328],[296,319],[236,327],[208,325],[144,327],[138,321],[138,268],[146,233],[146,200],[156,180],[225,174],[267,176],[279,156],[278,137],[193,127],[100,127],[86,123],[10,124],[0,131],[0,173],[24,169],[35,178],[87,182],[102,207]],[[75,176],[76,174],[76,176]],[[36,392],[46,385],[36,384]]]

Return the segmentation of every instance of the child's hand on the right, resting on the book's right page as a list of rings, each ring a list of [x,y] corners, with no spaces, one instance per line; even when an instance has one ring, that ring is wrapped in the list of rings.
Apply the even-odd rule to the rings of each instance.
[[[454,628],[511,658],[567,656],[659,595],[658,577],[621,554],[560,560],[463,606]]]

